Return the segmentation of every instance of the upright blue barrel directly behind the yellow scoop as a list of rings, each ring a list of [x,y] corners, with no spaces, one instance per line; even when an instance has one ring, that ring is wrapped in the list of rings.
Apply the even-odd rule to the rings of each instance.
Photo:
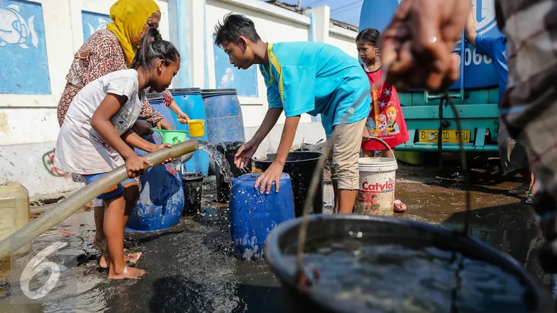
[[[174,101],[184,113],[186,113],[192,120],[205,120],[205,135],[201,138],[202,141],[208,141],[207,137],[207,115],[205,115],[205,106],[203,105],[203,97],[201,97],[201,89],[199,88],[185,88],[185,89],[171,89],[170,92],[174,97]],[[170,111],[173,120],[178,119],[173,111]],[[189,127],[180,122],[176,122],[176,129],[185,130],[189,134]],[[185,163],[187,172],[201,172],[207,176],[209,172],[209,154],[205,151],[197,150],[194,156]]]

